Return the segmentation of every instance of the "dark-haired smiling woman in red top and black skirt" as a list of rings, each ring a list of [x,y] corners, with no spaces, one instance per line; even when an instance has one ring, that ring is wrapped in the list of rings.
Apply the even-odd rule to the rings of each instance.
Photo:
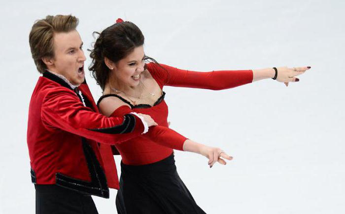
[[[89,69],[104,91],[98,101],[100,111],[106,116],[131,111],[148,114],[159,125],[150,128],[147,134],[116,146],[122,156],[117,211],[119,214],[204,214],[176,172],[173,149],[202,154],[209,159],[210,167],[215,162],[225,165],[224,159],[232,157],[171,129],[165,129],[163,134],[158,130],[160,126],[168,127],[163,86],[220,90],[266,78],[287,86],[289,82],[298,82],[295,76],[309,67],[216,72],[180,70],[145,56],[143,43],[144,37],[135,24],[118,19],[99,35],[90,54],[93,61]],[[145,60],[153,62],[145,64]]]

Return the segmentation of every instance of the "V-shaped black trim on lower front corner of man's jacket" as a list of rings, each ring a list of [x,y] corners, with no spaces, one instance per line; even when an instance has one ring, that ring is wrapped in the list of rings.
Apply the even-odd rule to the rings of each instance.
[[[64,175],[60,172],[56,173],[56,184],[68,189],[75,190],[83,194],[91,194],[102,198],[109,198],[109,188],[106,182],[104,171],[92,150],[92,147],[82,137],[82,146],[84,155],[89,169],[91,182],[75,179]]]

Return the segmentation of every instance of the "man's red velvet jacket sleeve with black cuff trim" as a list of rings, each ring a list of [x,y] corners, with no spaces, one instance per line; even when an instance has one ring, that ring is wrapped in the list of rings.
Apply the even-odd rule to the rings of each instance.
[[[133,114],[108,118],[85,107],[68,88],[48,91],[43,99],[42,123],[46,128],[59,128],[100,143],[116,144],[140,135],[141,120]]]

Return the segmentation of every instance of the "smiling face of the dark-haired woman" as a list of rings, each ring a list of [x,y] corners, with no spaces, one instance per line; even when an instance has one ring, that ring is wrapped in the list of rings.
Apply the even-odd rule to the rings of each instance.
[[[134,48],[134,50],[125,58],[118,61],[111,72],[110,82],[115,81],[118,84],[135,87],[138,86],[141,79],[141,73],[144,71],[144,48],[143,45]]]

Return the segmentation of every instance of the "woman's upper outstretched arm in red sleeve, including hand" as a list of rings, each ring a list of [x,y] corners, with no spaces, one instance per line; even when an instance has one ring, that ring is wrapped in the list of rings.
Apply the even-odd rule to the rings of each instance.
[[[273,68],[255,69],[255,70],[229,70],[229,71],[209,71],[197,72],[183,69],[177,69],[164,64],[147,64],[147,69],[152,76],[160,82],[160,85],[205,88],[211,90],[221,90],[242,86],[254,81],[273,78],[275,70]],[[308,67],[277,68],[278,82],[297,82],[297,75],[303,74]],[[297,81],[296,81],[297,80]]]

